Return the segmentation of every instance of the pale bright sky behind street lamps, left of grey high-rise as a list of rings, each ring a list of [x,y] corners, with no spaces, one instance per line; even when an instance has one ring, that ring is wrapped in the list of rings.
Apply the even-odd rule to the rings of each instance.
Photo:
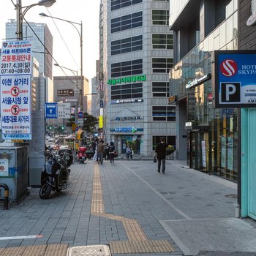
[[[15,4],[17,0],[12,0]],[[5,38],[5,23],[16,20],[16,10],[11,0],[1,0],[0,44]],[[39,0],[22,0],[26,7]],[[96,60],[99,59],[99,4],[100,0],[56,0],[51,7],[31,7],[25,18],[29,22],[46,23],[53,34],[53,57],[59,65],[78,70],[80,74],[80,25],[76,29],[69,23],[52,18],[42,18],[40,12],[56,18],[83,23],[83,75],[89,79],[96,75]],[[25,8],[23,9],[25,10]],[[56,25],[55,25],[56,24]],[[67,45],[67,46],[66,46]],[[1,48],[1,46],[0,46]],[[65,70],[67,75],[72,72]],[[53,75],[65,75],[59,67],[53,66]]]

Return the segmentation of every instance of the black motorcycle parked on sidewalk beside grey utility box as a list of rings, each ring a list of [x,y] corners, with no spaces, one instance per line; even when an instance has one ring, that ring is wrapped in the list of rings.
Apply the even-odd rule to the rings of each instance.
[[[41,173],[39,197],[47,199],[50,192],[60,192],[67,189],[70,177],[69,166],[72,165],[73,157],[70,149],[47,150],[43,154],[47,157],[47,161]]]

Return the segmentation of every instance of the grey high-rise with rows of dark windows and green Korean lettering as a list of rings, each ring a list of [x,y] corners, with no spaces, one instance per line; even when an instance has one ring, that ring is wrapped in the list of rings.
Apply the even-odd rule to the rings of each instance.
[[[102,0],[99,43],[105,140],[113,140],[118,153],[129,144],[145,156],[154,154],[161,137],[174,145],[176,110],[168,105],[173,67],[169,1]]]

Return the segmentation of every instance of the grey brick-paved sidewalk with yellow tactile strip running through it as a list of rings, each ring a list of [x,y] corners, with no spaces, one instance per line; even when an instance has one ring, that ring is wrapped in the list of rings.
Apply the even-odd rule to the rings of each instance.
[[[106,244],[112,255],[256,255],[256,223],[235,217],[236,184],[182,161],[166,169],[157,173],[152,159],[72,165],[59,196],[40,200],[31,189],[8,211],[0,203],[0,255],[45,244]]]

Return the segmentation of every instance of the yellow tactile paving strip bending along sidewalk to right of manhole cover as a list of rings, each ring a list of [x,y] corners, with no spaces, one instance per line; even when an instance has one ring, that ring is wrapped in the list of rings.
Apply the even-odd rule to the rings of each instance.
[[[128,241],[110,241],[110,251],[112,254],[174,252],[173,246],[168,241],[148,240],[137,220],[105,213],[99,165],[94,165],[91,214],[123,223]]]

